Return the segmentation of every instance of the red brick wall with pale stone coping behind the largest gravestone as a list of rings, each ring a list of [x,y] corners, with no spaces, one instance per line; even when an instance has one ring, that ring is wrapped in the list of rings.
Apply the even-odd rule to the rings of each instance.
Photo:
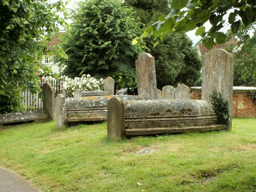
[[[201,87],[191,87],[193,99],[201,100]],[[248,96],[248,91],[256,92],[255,87],[233,87],[232,116],[233,117],[256,117],[256,104]]]

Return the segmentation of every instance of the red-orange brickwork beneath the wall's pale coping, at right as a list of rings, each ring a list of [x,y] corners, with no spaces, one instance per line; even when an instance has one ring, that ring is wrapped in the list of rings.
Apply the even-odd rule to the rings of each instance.
[[[201,91],[193,91],[193,99],[201,100]],[[233,92],[233,117],[256,117],[256,104],[247,92]]]

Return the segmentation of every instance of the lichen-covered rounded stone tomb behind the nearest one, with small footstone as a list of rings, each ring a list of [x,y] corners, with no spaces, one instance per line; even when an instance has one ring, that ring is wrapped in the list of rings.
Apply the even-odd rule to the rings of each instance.
[[[55,102],[56,127],[61,128],[75,122],[107,120],[107,104],[112,97],[119,97],[121,100],[144,99],[142,96],[132,95],[65,98],[59,94]]]

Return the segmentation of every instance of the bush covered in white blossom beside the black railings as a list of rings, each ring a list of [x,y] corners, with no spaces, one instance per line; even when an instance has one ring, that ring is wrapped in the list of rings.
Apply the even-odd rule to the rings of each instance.
[[[80,89],[81,91],[93,91],[93,90],[103,90],[104,89],[104,79],[100,80],[91,77],[89,74],[83,75],[81,78],[75,77],[74,79],[68,78],[67,76],[63,78],[63,88],[66,91],[68,97],[74,96],[74,90]]]

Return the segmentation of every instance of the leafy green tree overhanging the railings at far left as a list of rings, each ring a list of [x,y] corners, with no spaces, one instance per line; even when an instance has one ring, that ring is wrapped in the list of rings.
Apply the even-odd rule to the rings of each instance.
[[[22,110],[20,90],[40,90],[36,72],[64,22],[58,11],[64,11],[61,1],[0,0],[0,114]]]

